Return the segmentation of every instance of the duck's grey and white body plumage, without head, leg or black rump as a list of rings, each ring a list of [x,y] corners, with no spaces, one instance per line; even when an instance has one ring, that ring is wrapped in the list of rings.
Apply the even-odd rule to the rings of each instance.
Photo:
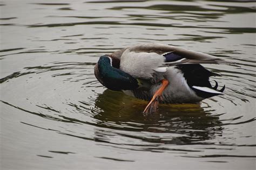
[[[178,56],[180,59],[170,62],[165,56],[168,54]],[[184,64],[199,65],[228,63],[221,58],[201,52],[186,50],[180,47],[157,43],[134,45],[113,52],[109,56],[120,61],[120,70],[129,73],[132,77],[137,78],[138,80],[148,80],[151,83],[150,89],[147,90],[136,89],[124,91],[131,96],[150,100],[157,89],[159,89],[159,81],[162,79],[169,80],[169,85],[164,90],[161,103],[196,103],[208,98],[209,95],[216,96],[218,94],[223,94],[222,91],[220,92],[217,91],[217,89],[213,89],[208,82],[208,77],[216,76],[218,74],[207,71],[203,67],[204,73],[209,74],[204,80],[207,81],[206,84],[208,85],[192,85],[190,82],[187,82],[188,77],[184,77],[184,71],[177,67],[178,65]],[[211,94],[204,97],[199,95],[201,92]]]

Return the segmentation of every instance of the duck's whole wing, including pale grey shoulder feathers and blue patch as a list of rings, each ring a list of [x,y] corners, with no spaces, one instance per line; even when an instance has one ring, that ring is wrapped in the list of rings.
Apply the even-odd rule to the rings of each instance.
[[[173,65],[227,63],[212,55],[157,43],[134,45],[110,56],[120,59],[120,70],[144,79],[152,78],[154,71],[165,72]]]

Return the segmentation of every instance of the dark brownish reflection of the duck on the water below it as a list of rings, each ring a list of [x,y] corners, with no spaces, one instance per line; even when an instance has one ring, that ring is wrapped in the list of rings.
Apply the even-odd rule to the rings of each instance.
[[[198,104],[163,104],[158,112],[145,117],[142,112],[146,104],[147,101],[122,92],[106,90],[99,94],[95,103],[98,114],[94,118],[98,127],[107,128],[96,130],[95,140],[109,139],[110,133],[115,133],[109,128],[122,130],[116,134],[124,137],[176,145],[203,142],[222,133],[219,117],[205,112]],[[152,132],[154,138],[145,137],[145,133],[138,136],[138,132]],[[169,133],[175,137],[166,139]]]

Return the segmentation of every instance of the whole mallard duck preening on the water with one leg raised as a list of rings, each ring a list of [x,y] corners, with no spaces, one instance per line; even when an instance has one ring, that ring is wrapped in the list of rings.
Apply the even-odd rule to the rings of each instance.
[[[201,64],[227,64],[224,59],[181,47],[145,43],[103,55],[94,67],[97,80],[107,89],[149,103],[143,113],[157,111],[161,104],[200,103],[224,94],[209,78],[220,76]]]

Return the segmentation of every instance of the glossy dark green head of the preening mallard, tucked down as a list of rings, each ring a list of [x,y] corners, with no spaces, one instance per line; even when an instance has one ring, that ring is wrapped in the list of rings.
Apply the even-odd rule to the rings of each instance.
[[[137,89],[139,87],[137,79],[120,70],[119,65],[120,60],[118,58],[107,55],[100,57],[94,68],[96,78],[110,90]]]

